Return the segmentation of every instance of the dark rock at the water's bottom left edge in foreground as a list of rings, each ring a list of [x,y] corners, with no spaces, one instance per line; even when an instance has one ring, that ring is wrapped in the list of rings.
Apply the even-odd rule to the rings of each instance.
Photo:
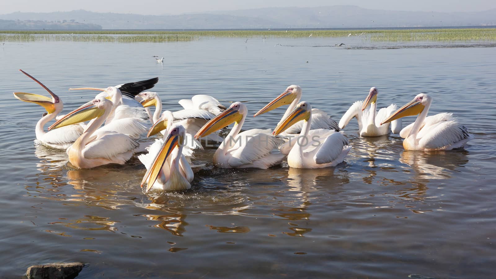
[[[82,263],[58,263],[30,266],[26,271],[28,279],[73,279],[83,269]]]

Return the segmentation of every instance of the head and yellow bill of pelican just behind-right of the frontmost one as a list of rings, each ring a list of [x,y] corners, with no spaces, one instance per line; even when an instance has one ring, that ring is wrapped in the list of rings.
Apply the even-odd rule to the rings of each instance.
[[[201,129],[194,135],[195,139],[208,136],[215,131],[218,131],[231,123],[239,123],[248,113],[247,106],[241,102],[232,103],[231,106],[210,119]]]

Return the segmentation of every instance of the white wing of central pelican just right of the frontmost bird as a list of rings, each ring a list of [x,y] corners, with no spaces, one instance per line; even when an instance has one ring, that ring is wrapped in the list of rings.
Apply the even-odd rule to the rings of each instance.
[[[239,167],[251,164],[253,161],[269,155],[270,151],[277,148],[280,141],[282,141],[281,139],[274,138],[271,132],[270,129],[251,129],[240,133],[237,138],[240,142],[228,150],[231,153],[231,158],[228,161],[229,165]],[[231,140],[235,141],[235,139]]]

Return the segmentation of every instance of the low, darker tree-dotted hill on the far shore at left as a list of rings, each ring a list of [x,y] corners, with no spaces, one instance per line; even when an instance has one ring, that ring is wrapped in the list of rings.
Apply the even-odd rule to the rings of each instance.
[[[62,29],[62,30],[95,30],[102,29],[98,24],[86,24],[75,21],[47,21],[47,20],[3,20],[0,19],[1,30],[29,30],[29,29]]]

